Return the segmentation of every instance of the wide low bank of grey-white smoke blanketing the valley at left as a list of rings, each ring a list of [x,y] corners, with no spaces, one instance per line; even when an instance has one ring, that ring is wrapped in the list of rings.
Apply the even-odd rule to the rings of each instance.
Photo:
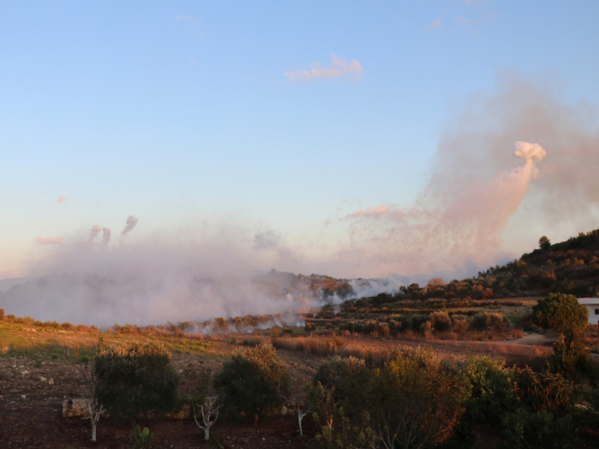
[[[310,292],[265,283],[257,267],[293,262],[254,248],[243,229],[153,235],[127,245],[108,245],[110,231],[103,232],[105,244],[57,246],[28,279],[1,293],[0,307],[37,320],[107,327],[307,312],[317,303]]]

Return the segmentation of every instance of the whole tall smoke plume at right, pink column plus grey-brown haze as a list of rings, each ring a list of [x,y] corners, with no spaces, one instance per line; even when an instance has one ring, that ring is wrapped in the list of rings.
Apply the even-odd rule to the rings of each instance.
[[[502,249],[504,230],[525,198],[526,217],[507,229],[510,240],[551,234],[560,225],[568,227],[564,238],[592,229],[599,205],[596,118],[589,106],[569,106],[541,82],[500,75],[497,94],[476,97],[447,126],[428,185],[412,207],[378,205],[346,216],[350,247],[339,258],[363,275],[471,275],[532,249]],[[524,164],[514,166],[512,146]]]

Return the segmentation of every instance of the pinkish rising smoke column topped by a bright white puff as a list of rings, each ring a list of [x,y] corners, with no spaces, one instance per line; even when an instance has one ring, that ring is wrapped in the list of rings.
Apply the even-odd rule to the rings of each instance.
[[[512,154],[523,158],[524,165],[490,179],[445,185],[438,196],[426,191],[406,210],[379,205],[347,215],[354,248],[373,256],[388,272],[491,263],[502,229],[538,177],[536,163],[546,153],[539,144],[517,141]]]

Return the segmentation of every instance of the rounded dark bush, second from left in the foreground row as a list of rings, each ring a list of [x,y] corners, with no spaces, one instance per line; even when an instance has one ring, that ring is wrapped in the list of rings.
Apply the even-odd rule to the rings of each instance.
[[[270,344],[237,350],[214,378],[224,412],[259,419],[278,410],[288,396],[289,368]]]

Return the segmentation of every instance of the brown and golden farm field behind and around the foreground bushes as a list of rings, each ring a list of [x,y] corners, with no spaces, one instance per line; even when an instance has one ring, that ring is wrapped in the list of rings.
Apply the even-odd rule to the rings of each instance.
[[[368,303],[368,301],[364,301]],[[459,304],[459,316],[481,313],[502,313],[519,322],[530,313],[532,300],[471,302]],[[434,301],[421,304],[402,303],[375,305],[364,308],[361,314],[367,324],[378,314],[417,312],[417,316],[439,310]],[[192,377],[186,376],[193,367],[218,372],[223,361],[238,348],[271,343],[277,354],[288,365],[291,395],[285,403],[285,415],[271,416],[264,421],[239,424],[222,418],[211,431],[211,440],[202,441],[202,432],[193,419],[152,417],[139,419],[154,434],[152,448],[316,448],[319,425],[311,416],[303,422],[304,435],[300,436],[297,415],[291,398],[304,393],[323,360],[340,355],[366,360],[368,365],[385,365],[399,347],[431,348],[443,358],[465,360],[471,354],[500,355],[510,363],[524,365],[530,358],[551,350],[552,336],[526,333],[519,329],[487,329],[469,333],[464,331],[415,331],[390,333],[377,331],[358,333],[348,330],[350,322],[357,322],[355,312],[344,312],[327,317],[328,311],[316,312],[306,320],[305,327],[274,327],[251,334],[190,334],[180,328],[117,327],[100,331],[94,327],[73,326],[68,323],[36,322],[31,318],[4,317],[0,322],[0,441],[8,448],[130,448],[135,444],[135,433],[130,422],[101,419],[98,442],[89,440],[89,422],[77,417],[62,416],[63,400],[85,397],[85,382],[80,364],[89,364],[94,357],[94,346],[101,339],[104,345],[115,343],[161,343],[173,354],[172,363],[180,374],[180,394],[193,389]],[[344,315],[345,313],[345,315]],[[454,313],[452,313],[454,315]],[[378,323],[387,322],[378,320]],[[524,337],[524,338],[522,338]],[[480,441],[494,441],[497,429],[477,431]]]

